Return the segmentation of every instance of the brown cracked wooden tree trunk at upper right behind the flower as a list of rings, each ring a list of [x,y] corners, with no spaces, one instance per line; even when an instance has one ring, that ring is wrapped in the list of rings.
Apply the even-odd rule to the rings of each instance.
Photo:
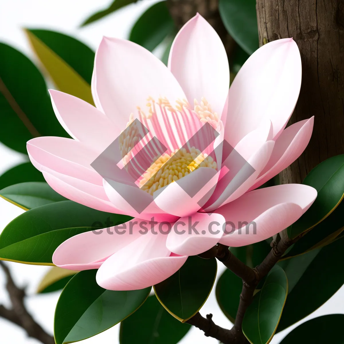
[[[282,183],[300,183],[315,165],[344,153],[344,0],[257,0],[256,9],[260,45],[293,37],[301,53],[301,91],[289,124],[314,115],[313,135],[280,174]]]

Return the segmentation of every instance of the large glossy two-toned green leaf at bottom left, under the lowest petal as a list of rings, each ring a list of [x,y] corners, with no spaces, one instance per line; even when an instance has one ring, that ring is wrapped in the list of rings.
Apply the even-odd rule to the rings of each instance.
[[[151,290],[106,290],[98,286],[96,273],[81,271],[63,289],[55,310],[56,344],[81,341],[118,324],[144,303]]]

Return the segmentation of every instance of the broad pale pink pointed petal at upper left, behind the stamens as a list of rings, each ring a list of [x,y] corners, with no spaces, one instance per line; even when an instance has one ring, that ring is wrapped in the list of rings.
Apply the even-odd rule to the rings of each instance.
[[[93,97],[120,129],[137,107],[148,113],[147,98],[185,98],[168,68],[148,50],[130,41],[104,37],[95,58]]]

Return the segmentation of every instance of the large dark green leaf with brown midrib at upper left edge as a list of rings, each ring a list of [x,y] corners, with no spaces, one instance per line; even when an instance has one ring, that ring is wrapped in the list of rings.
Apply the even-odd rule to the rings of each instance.
[[[68,137],[36,66],[4,43],[0,43],[0,56],[0,141],[26,154],[26,142],[34,137]]]

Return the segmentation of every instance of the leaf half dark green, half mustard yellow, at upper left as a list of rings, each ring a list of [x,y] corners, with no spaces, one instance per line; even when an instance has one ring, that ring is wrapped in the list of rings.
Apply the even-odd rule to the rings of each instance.
[[[95,53],[73,37],[48,30],[25,30],[55,85],[62,92],[93,103],[91,79]]]

